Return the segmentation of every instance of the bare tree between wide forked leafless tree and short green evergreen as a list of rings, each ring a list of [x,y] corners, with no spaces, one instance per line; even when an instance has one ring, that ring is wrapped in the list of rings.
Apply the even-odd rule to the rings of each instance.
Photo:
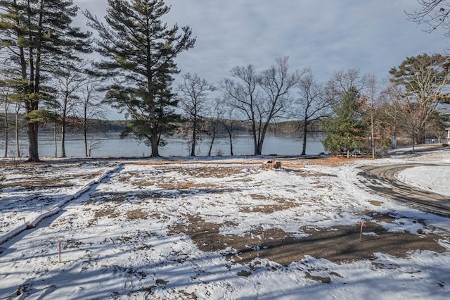
[[[300,78],[297,87],[299,93],[295,99],[293,117],[302,120],[300,123],[303,132],[301,155],[305,155],[309,127],[311,123],[326,118],[330,114],[331,102],[326,97],[325,88],[314,80],[310,71]]]

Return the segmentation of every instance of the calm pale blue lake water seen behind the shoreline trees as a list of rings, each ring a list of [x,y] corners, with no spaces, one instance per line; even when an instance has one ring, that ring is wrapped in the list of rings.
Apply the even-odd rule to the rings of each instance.
[[[323,152],[321,136],[311,137],[307,142],[307,154],[319,154]],[[10,136],[8,144],[8,156],[15,155],[15,143]],[[89,135],[88,140],[95,141],[98,147],[91,150],[93,157],[146,157],[150,156],[150,147],[139,143],[136,139],[120,139],[119,132],[108,132],[105,134]],[[167,145],[160,147],[161,156],[189,156],[187,139],[181,137],[167,137]],[[211,139],[205,138],[197,146],[197,156],[207,156]],[[0,156],[4,155],[4,137],[0,136]],[[60,156],[60,141],[58,139],[58,156]],[[26,135],[20,136],[20,151],[23,156],[28,154],[28,143]],[[55,153],[53,135],[39,134],[39,156],[53,157]],[[234,155],[252,155],[253,139],[250,135],[236,135],[233,139]],[[286,135],[266,135],[264,139],[262,154],[270,155],[299,155],[302,153],[302,139]],[[68,135],[65,139],[65,154],[68,157],[83,157],[84,142],[82,135]],[[227,137],[219,137],[214,141],[212,156],[230,155],[229,140]]]

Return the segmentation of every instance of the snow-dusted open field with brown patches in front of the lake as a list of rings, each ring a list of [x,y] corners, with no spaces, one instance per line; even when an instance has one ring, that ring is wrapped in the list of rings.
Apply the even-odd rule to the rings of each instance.
[[[0,161],[0,299],[450,299],[449,218],[358,175],[450,197],[450,149],[262,162]]]

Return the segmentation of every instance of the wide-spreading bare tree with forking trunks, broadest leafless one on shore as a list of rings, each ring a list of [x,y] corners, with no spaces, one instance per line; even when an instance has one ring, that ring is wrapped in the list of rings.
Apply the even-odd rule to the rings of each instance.
[[[225,99],[250,121],[255,155],[262,146],[269,124],[285,113],[289,92],[300,78],[299,71],[288,72],[288,57],[276,58],[276,64],[257,74],[253,65],[235,67],[231,75],[236,80],[222,83]]]

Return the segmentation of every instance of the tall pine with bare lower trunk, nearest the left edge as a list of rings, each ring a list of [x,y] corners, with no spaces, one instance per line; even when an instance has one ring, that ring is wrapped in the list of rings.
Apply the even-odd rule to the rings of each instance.
[[[0,46],[8,61],[15,101],[23,102],[27,120],[28,161],[39,161],[38,124],[48,115],[39,103],[51,99],[46,67],[89,51],[88,33],[71,27],[78,7],[72,0],[0,1]]]

